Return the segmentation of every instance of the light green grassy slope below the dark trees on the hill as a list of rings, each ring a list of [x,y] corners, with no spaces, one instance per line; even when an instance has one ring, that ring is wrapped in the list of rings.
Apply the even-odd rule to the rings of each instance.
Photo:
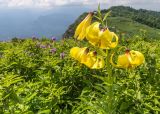
[[[144,24],[133,21],[132,19],[125,17],[110,17],[108,18],[108,26],[114,30],[121,33],[125,33],[127,37],[132,37],[140,32],[145,32],[145,37],[147,39],[159,39],[160,29],[152,28]],[[143,36],[144,37],[144,36]]]

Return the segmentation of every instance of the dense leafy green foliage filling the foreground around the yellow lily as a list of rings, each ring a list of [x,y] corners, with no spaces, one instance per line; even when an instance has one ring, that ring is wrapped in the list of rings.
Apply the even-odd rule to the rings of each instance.
[[[160,112],[160,42],[146,41],[144,35],[120,40],[146,60],[133,71],[114,70],[115,114]],[[88,45],[73,39],[0,42],[0,113],[107,114],[107,68],[90,70],[70,58],[77,44]]]

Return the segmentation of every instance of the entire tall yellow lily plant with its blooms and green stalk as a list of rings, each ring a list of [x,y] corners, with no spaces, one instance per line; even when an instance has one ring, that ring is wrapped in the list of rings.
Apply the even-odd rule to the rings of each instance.
[[[87,39],[88,42],[93,45],[99,55],[95,51],[90,51],[89,47],[73,47],[70,50],[70,55],[81,64],[86,65],[90,69],[101,69],[106,65],[107,68],[107,113],[113,114],[114,112],[114,77],[112,67],[123,69],[134,69],[144,62],[144,56],[139,51],[126,50],[122,55],[118,56],[117,64],[113,62],[113,55],[116,51],[113,49],[117,47],[119,38],[118,36],[109,30],[107,27],[107,17],[110,12],[106,13],[103,17],[98,6],[97,16],[98,21],[92,22],[93,13],[89,13],[86,18],[77,26],[74,37],[78,40]],[[106,22],[106,23],[105,23]],[[101,28],[102,26],[102,28]],[[123,46],[120,48],[122,49]],[[104,51],[106,50],[106,51]],[[112,53],[113,52],[113,53]],[[104,61],[106,59],[106,61]],[[139,88],[138,80],[136,80],[136,87]],[[136,97],[138,98],[138,91]]]

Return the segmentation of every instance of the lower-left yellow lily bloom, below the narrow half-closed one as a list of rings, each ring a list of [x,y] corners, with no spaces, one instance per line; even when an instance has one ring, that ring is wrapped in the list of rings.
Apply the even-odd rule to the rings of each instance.
[[[87,47],[73,47],[70,50],[70,55],[71,57],[91,69],[103,68],[105,64],[104,59],[101,56],[97,57],[97,54],[95,52],[89,52],[89,49]]]

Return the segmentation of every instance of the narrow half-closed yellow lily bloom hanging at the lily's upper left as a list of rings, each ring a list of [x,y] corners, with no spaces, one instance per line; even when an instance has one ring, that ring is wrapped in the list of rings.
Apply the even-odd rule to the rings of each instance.
[[[83,40],[86,36],[86,29],[91,24],[93,13],[89,13],[86,18],[77,26],[74,38]]]

